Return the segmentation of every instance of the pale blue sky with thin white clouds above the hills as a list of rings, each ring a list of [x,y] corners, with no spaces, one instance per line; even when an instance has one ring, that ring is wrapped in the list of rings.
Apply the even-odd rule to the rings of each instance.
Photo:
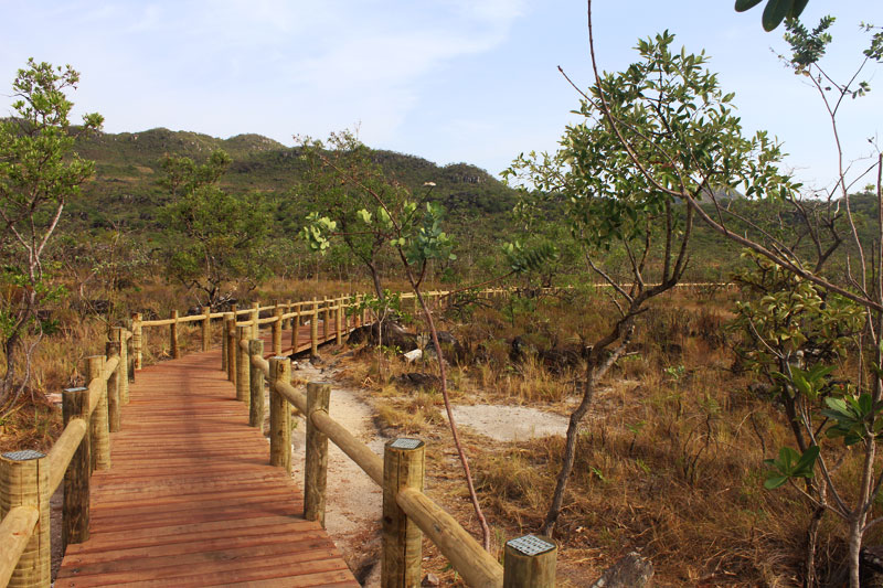
[[[834,78],[854,73],[883,1],[811,0],[815,23],[833,10],[827,57]],[[599,66],[636,60],[640,38],[668,29],[705,50],[748,131],[781,140],[811,188],[830,185],[837,151],[822,103],[787,71],[783,30],[765,33],[760,7],[732,0],[595,0]],[[74,114],[98,111],[108,132],[156,127],[281,143],[344,128],[377,149],[499,174],[521,152],[554,150],[592,83],[586,4],[579,0],[0,0],[0,116],[28,57],[81,72]],[[848,160],[883,132],[883,66],[872,92],[840,113]],[[78,118],[78,117],[77,117]],[[858,164],[857,164],[858,167]],[[861,182],[863,185],[866,182]]]

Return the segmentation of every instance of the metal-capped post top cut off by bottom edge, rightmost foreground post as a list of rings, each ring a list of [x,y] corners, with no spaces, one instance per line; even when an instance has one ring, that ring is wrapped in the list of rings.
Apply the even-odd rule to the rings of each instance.
[[[555,588],[557,546],[544,536],[506,542],[503,588]]]

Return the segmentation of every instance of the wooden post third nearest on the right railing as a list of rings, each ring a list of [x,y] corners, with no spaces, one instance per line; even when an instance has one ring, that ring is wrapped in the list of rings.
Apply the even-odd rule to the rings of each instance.
[[[312,414],[328,414],[331,384],[307,384],[307,447],[304,464],[304,518],[318,521],[325,528],[325,490],[328,480],[328,437],[312,423]]]

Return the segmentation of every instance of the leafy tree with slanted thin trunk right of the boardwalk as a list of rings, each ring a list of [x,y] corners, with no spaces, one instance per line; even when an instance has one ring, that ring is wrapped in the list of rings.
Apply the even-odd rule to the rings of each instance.
[[[639,41],[640,61],[581,92],[583,118],[565,129],[557,152],[522,156],[506,172],[525,202],[558,203],[586,264],[611,286],[618,310],[588,346],[544,533],[557,522],[598,382],[625,352],[647,302],[683,276],[695,218],[690,200],[743,183],[763,193],[788,186],[777,168],[778,146],[765,133],[745,138],[733,96],[705,68],[704,54],[673,51],[673,41],[668,31]],[[628,282],[600,264],[615,247],[624,252]]]

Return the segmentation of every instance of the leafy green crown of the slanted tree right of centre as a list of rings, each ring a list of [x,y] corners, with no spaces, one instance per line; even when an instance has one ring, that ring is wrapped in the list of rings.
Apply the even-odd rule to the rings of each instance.
[[[797,188],[779,171],[777,143],[765,132],[743,137],[733,94],[705,70],[708,57],[674,51],[673,42],[668,32],[639,41],[641,60],[592,88],[577,111],[584,121],[565,129],[556,153],[522,154],[504,172],[521,181],[522,206],[557,202],[577,240],[610,250],[646,238],[658,226],[651,220],[664,223],[679,193],[701,200],[741,190],[777,200]],[[683,223],[682,215],[670,220]]]

